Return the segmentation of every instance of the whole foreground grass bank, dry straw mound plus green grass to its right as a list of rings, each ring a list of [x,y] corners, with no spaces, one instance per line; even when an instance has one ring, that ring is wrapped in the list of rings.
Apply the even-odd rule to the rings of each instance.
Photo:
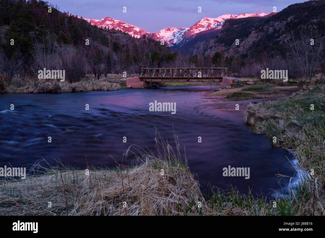
[[[186,158],[185,164],[181,162],[178,138],[175,137],[176,153],[159,133],[157,138],[159,155],[134,145],[129,147],[125,158],[133,153],[138,161],[132,168],[89,168],[86,175],[85,170],[67,168],[58,161],[57,166],[47,169],[35,165],[35,176],[2,180],[0,215],[279,214],[266,199],[241,195],[235,190],[213,189],[206,200]]]

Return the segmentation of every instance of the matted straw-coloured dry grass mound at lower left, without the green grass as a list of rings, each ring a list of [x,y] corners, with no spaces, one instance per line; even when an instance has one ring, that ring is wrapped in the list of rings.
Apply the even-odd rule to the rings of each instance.
[[[2,185],[5,191],[15,192],[2,192],[1,215],[67,215],[67,210],[69,215],[176,215],[189,203],[189,196],[199,198],[198,184],[184,167],[157,163],[164,168],[165,175],[161,176],[154,163],[148,160],[122,173],[104,169],[91,170],[89,175],[82,170],[62,171],[63,182],[55,170],[7,182]],[[198,212],[192,209],[189,214]]]

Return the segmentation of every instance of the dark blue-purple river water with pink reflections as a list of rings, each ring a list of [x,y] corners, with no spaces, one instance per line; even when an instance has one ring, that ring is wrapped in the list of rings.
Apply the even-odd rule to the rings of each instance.
[[[174,126],[181,156],[185,157],[185,148],[189,168],[198,175],[202,190],[209,190],[210,186],[227,189],[229,184],[240,192],[251,189],[254,194],[280,189],[275,174],[294,175],[288,161],[292,155],[272,147],[266,135],[253,133],[244,124],[242,111],[207,108],[207,99],[202,98],[209,90],[210,86],[186,86],[2,94],[0,167],[11,165],[28,169],[42,158],[50,164],[59,158],[84,169],[85,154],[91,165],[113,167],[116,162],[121,163],[129,145],[156,152],[156,125],[175,149]],[[149,103],[155,100],[175,102],[176,113],[150,112]],[[14,104],[13,111],[10,104]],[[89,104],[89,110],[85,110],[85,104]],[[49,136],[51,143],[48,143]],[[229,165],[249,167],[250,178],[224,177],[223,168]],[[288,180],[281,182],[286,184]]]

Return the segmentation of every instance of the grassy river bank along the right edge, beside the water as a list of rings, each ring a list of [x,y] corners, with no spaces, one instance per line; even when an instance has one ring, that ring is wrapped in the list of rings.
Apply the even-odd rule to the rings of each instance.
[[[288,99],[248,105],[245,123],[273,145],[293,149],[309,174],[282,203],[284,215],[325,215],[325,89],[298,91]]]

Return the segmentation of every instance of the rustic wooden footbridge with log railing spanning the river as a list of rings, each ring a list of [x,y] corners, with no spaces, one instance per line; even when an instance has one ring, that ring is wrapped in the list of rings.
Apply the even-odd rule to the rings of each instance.
[[[142,82],[222,82],[228,68],[141,68]]]

